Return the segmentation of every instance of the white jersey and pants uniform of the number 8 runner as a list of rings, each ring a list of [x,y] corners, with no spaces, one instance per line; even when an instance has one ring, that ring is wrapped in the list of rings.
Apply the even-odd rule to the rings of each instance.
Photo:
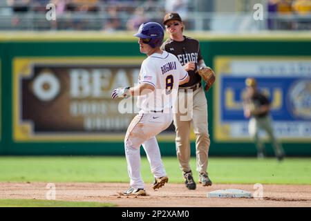
[[[169,110],[177,99],[179,81],[187,75],[177,57],[166,51],[162,54],[153,53],[142,62],[138,83],[151,84],[155,90],[138,96],[140,113],[132,120],[124,139],[130,184],[135,189],[144,189],[140,175],[141,145],[147,154],[154,177],[166,175],[156,135],[171,125],[173,115]]]

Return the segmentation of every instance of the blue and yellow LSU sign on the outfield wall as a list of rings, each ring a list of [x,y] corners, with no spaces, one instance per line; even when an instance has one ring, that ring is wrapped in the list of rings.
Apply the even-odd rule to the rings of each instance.
[[[275,134],[281,140],[311,140],[311,58],[217,57],[214,93],[218,141],[247,141],[248,119],[243,115],[245,79],[254,77],[270,99]]]

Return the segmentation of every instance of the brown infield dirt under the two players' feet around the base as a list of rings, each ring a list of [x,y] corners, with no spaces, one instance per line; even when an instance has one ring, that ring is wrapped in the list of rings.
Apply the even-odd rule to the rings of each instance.
[[[49,189],[47,183],[0,182],[1,199],[45,200]],[[121,196],[128,184],[123,183],[55,183],[56,200],[111,202],[124,207],[147,206],[309,206],[311,207],[311,185],[263,185],[263,200],[207,198],[207,192],[217,189],[243,189],[254,193],[252,184],[198,185],[189,191],[183,184],[167,184],[153,191],[146,184],[148,196]]]

